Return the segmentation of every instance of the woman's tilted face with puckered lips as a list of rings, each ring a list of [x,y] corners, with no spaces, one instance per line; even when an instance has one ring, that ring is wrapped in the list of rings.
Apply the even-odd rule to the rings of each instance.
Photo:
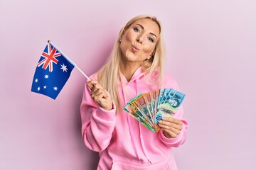
[[[124,61],[142,64],[151,57],[159,40],[159,26],[149,18],[142,18],[125,30],[120,48]]]

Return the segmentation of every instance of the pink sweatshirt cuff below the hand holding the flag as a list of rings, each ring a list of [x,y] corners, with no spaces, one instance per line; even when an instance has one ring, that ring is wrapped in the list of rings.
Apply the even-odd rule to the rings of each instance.
[[[116,112],[116,106],[114,102],[112,101],[112,109],[110,111],[105,110],[104,108],[97,106],[97,117],[103,120],[114,120],[115,118],[115,112]]]

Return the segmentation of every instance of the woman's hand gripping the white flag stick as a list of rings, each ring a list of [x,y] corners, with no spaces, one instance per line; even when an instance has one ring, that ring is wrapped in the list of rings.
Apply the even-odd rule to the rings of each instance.
[[[88,81],[87,86],[91,89],[90,96],[93,100],[95,100],[100,107],[110,111],[113,107],[110,93],[95,80]]]

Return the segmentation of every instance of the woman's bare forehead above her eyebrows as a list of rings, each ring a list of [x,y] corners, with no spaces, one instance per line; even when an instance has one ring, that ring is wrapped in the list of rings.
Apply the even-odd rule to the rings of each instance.
[[[134,21],[134,23],[132,23],[132,26],[135,25],[141,25],[144,27],[144,30],[149,31],[150,33],[154,33],[155,35],[159,35],[159,25],[149,18],[138,19],[137,21]]]

